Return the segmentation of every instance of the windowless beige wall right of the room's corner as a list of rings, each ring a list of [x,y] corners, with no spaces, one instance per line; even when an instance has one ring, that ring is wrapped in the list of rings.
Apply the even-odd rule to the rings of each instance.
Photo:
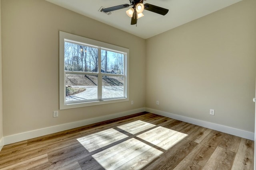
[[[243,0],[147,39],[146,107],[254,132],[255,7]]]

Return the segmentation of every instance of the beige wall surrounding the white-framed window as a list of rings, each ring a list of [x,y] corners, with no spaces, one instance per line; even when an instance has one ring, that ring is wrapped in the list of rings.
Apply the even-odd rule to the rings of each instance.
[[[130,49],[130,102],[59,111],[59,30]],[[4,136],[145,107],[146,43],[44,0],[2,0]]]

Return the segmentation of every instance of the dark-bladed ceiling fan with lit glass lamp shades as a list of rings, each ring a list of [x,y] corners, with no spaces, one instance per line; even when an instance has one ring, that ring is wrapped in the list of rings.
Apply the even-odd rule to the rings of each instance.
[[[143,17],[144,15],[142,14],[143,10],[148,10],[151,12],[155,12],[157,14],[161,15],[166,15],[168,13],[168,9],[151,5],[151,4],[143,4],[143,0],[129,0],[129,4],[122,4],[118,6],[112,6],[109,8],[104,8],[101,11],[103,12],[110,12],[110,11],[115,11],[115,10],[120,10],[123,8],[128,8],[129,6],[132,6],[129,10],[126,11],[126,14],[132,18],[131,25],[134,25],[137,23],[138,18]]]

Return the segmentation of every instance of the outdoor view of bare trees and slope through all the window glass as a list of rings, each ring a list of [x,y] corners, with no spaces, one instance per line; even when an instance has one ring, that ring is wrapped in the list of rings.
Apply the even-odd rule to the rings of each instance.
[[[68,41],[64,45],[66,101],[98,99],[99,75],[91,72],[98,73],[99,49]],[[124,97],[124,54],[102,49],[100,65],[101,98]]]

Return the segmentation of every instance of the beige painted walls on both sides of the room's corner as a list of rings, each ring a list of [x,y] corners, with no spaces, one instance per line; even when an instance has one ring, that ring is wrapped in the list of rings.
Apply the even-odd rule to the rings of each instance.
[[[146,41],[44,0],[1,2],[3,136],[145,106],[254,131],[255,0]],[[66,109],[53,118],[59,108],[59,30],[129,48],[134,105]]]

